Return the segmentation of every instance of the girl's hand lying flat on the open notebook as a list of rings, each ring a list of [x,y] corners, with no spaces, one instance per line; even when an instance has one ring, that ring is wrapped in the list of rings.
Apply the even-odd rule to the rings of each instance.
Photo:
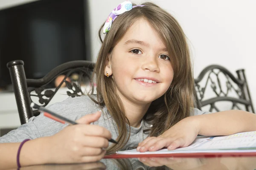
[[[158,137],[148,137],[139,143],[137,151],[156,151],[167,147],[174,150],[177,147],[186,147],[191,144],[199,133],[198,122],[195,116],[182,119]]]

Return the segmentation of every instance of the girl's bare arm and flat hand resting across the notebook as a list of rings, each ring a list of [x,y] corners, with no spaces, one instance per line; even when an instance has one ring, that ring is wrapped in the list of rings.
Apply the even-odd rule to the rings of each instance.
[[[246,111],[222,111],[218,113],[189,116],[166,130],[158,137],[148,137],[137,151],[156,151],[163,147],[169,150],[186,147],[198,134],[226,136],[239,132],[256,131],[256,115]]]

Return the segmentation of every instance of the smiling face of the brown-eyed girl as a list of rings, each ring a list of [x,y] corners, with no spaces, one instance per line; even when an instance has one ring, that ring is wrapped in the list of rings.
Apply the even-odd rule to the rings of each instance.
[[[173,79],[166,46],[144,19],[137,20],[113,48],[105,67],[121,100],[148,104],[162,96]]]

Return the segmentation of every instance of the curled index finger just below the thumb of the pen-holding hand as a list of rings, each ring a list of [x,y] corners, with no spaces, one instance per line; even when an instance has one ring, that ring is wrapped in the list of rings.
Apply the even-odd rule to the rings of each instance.
[[[85,136],[100,136],[106,139],[111,139],[112,135],[108,129],[99,125],[75,125],[74,131],[82,133]]]

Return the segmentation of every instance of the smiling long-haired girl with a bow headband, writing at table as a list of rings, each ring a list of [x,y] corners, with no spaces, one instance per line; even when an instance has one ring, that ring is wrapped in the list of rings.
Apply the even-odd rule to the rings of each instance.
[[[106,152],[129,147],[138,146],[140,152],[172,150],[188,146],[198,134],[256,130],[252,113],[205,114],[193,108],[186,37],[175,18],[162,8],[125,1],[112,11],[101,30],[106,35],[102,41],[99,32],[102,47],[94,69],[97,95],[49,106],[79,125],[65,126],[42,114],[32,117],[0,138],[1,165],[98,161]],[[109,145],[111,138],[119,144]],[[33,140],[24,144],[25,139]]]

